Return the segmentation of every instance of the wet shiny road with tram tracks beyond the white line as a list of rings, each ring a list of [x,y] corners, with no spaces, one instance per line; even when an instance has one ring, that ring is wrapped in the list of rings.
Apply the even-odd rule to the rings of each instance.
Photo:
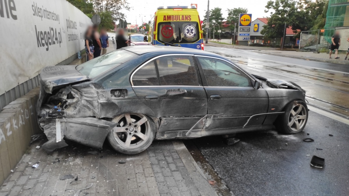
[[[266,55],[253,50],[206,47],[251,74],[292,81],[306,90],[310,105],[349,118],[349,66]]]

